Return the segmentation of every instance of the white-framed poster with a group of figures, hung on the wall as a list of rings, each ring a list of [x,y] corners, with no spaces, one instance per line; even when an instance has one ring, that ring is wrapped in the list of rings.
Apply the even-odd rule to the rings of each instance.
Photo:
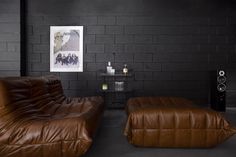
[[[83,26],[50,27],[50,71],[83,72]]]

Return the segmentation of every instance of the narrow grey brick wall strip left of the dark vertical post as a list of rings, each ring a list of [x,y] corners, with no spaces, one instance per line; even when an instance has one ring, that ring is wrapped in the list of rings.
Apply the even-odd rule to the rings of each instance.
[[[0,76],[20,75],[20,1],[0,1]]]

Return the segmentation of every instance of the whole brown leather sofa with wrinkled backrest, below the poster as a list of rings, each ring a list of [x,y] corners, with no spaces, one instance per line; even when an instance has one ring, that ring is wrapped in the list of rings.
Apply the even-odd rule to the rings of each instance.
[[[2,78],[0,156],[81,156],[102,112],[101,97],[67,98],[54,76]]]

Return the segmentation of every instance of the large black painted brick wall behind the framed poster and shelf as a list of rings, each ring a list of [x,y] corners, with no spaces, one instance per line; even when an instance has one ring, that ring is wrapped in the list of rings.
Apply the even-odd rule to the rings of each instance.
[[[209,71],[228,71],[236,102],[236,4],[176,0],[28,0],[28,75],[49,74],[49,27],[84,26],[84,72],[54,73],[66,93],[93,95],[107,61],[134,71],[136,95],[207,103]],[[233,96],[232,96],[233,95]]]

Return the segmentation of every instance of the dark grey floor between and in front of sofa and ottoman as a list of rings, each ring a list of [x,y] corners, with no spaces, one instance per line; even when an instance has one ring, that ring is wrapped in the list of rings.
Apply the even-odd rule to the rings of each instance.
[[[226,118],[236,126],[236,109],[229,109]],[[102,125],[91,149],[84,157],[235,157],[236,135],[211,149],[139,148],[130,145],[123,135],[126,116],[122,110],[105,111]]]

